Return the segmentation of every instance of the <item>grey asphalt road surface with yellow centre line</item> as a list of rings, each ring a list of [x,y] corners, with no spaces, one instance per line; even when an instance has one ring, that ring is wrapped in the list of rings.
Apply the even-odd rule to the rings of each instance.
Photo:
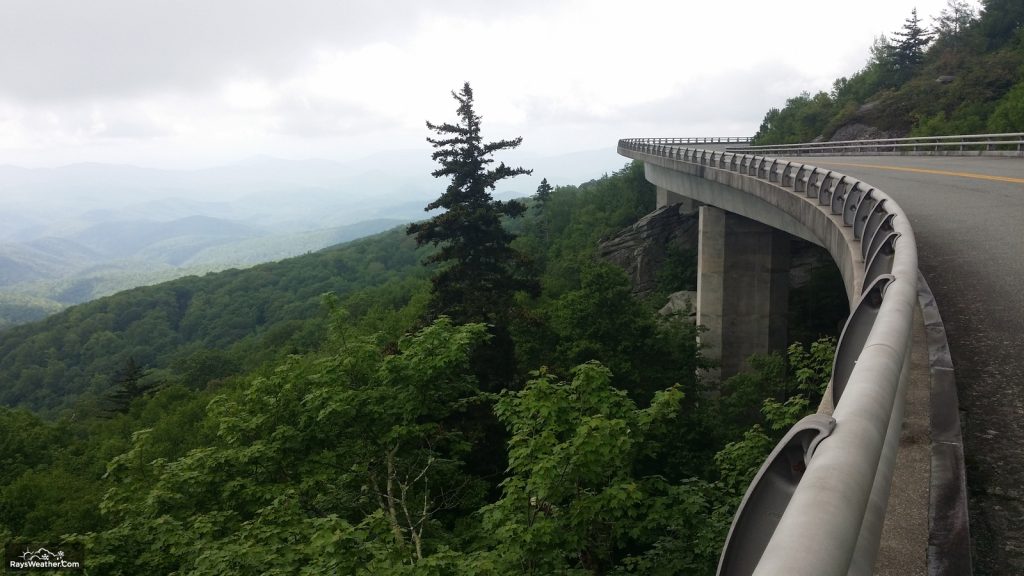
[[[1024,159],[804,157],[903,207],[953,360],[974,573],[1024,574]]]

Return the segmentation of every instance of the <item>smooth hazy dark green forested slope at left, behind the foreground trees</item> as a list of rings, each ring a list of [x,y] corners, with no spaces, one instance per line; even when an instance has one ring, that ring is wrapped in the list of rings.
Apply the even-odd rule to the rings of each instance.
[[[187,277],[0,331],[0,404],[56,412],[100,398],[129,358],[153,377],[203,387],[290,353],[315,349],[321,296],[401,308],[423,284],[422,251],[400,229],[249,270]],[[392,330],[393,332],[393,330]]]

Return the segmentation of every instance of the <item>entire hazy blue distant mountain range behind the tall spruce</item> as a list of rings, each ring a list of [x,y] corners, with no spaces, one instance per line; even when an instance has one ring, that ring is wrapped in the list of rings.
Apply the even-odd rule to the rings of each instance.
[[[613,149],[521,156],[569,183],[625,161]],[[323,249],[424,217],[445,186],[428,153],[354,162],[255,157],[201,170],[108,164],[0,166],[0,329],[134,286]]]

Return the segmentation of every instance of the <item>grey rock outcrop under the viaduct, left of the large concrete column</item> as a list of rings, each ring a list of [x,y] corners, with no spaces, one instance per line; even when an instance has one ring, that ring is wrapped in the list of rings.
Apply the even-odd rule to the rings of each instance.
[[[618,265],[630,276],[638,297],[656,289],[657,271],[670,250],[695,248],[697,214],[681,205],[658,208],[598,245],[598,257]]]

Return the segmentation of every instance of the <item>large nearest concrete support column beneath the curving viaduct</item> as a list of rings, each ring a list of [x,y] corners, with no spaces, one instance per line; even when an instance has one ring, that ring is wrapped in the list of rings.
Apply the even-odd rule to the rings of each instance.
[[[712,206],[699,208],[697,323],[721,378],[786,344],[788,235]],[[710,376],[715,377],[714,374]]]

